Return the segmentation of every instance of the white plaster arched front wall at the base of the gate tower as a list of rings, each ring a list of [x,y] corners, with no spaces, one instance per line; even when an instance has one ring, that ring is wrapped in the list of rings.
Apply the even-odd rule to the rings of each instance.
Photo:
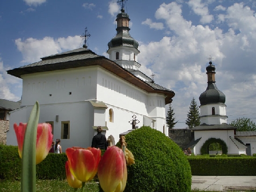
[[[239,150],[237,146],[231,141],[229,138],[230,136],[234,138],[234,131],[233,130],[208,130],[208,131],[194,131],[195,140],[202,137],[198,144],[196,144],[196,154],[201,154],[200,150],[202,145],[209,139],[209,138],[219,138],[222,139],[226,145],[228,146],[228,154],[239,154]]]

